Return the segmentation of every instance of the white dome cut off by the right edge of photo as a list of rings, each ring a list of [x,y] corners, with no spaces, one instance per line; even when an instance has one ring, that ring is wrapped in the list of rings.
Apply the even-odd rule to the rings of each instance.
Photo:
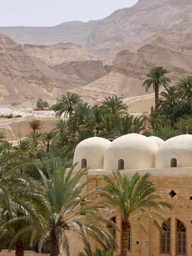
[[[159,148],[155,166],[171,167],[171,162],[177,162],[177,167],[192,167],[192,135],[179,135],[166,140]]]

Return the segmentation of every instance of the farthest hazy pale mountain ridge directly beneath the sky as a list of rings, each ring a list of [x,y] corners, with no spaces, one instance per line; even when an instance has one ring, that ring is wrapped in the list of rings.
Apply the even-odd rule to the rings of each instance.
[[[138,0],[133,7],[115,11],[103,20],[66,22],[46,28],[2,27],[0,33],[20,43],[73,42],[97,51],[119,46],[134,48],[156,33],[174,33],[178,29],[177,38],[192,33],[191,12],[191,0]]]

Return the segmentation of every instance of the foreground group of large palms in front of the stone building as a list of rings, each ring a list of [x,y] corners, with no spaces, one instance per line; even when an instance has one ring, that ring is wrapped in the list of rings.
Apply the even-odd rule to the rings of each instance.
[[[131,179],[113,172],[103,177],[103,186],[86,192],[88,183],[82,179],[87,170],[66,169],[62,158],[46,152],[37,157],[21,148],[1,144],[0,152],[0,245],[15,249],[16,256],[24,256],[24,249],[41,248],[47,243],[50,256],[58,256],[61,249],[70,255],[69,233],[76,233],[85,245],[80,255],[112,255],[113,237],[107,225],[115,224],[103,212],[117,212],[122,218],[120,255],[127,255],[127,223],[137,216],[138,223],[147,219],[156,225],[163,221],[159,210],[170,207],[160,201],[149,174]],[[34,166],[38,176],[32,174]],[[99,200],[98,200],[99,198]],[[151,212],[153,211],[153,214]],[[156,215],[155,215],[156,212]],[[151,217],[153,216],[153,217]],[[93,252],[92,237],[100,246]]]

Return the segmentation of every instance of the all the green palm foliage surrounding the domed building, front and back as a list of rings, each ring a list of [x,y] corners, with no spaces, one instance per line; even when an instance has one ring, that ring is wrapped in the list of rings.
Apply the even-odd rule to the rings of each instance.
[[[0,133],[1,248],[15,248],[16,256],[23,256],[24,249],[46,247],[51,256],[58,256],[63,246],[69,255],[68,232],[77,232],[85,245],[85,253],[80,255],[111,256],[112,237],[107,224],[114,223],[100,216],[101,209],[118,210],[122,218],[121,256],[127,255],[128,227],[133,215],[140,216],[145,211],[145,217],[160,227],[161,216],[155,211],[170,205],[159,201],[148,174],[142,178],[135,174],[130,179],[117,171],[114,179],[104,177],[103,188],[86,194],[87,182],[81,179],[86,170],[74,172],[72,157],[76,145],[91,136],[113,140],[134,132],[168,139],[192,134],[192,77],[183,77],[170,86],[167,73],[163,67],[156,67],[147,75],[146,90],[158,87],[155,97],[159,86],[164,90],[160,99],[158,93],[156,108],[140,117],[129,114],[118,96],[91,106],[78,95],[67,94],[52,107],[59,117],[53,130],[42,133],[41,121],[34,119],[28,123],[30,134],[14,147]],[[96,194],[102,201],[94,201]],[[138,219],[144,228],[142,216]],[[92,251],[90,236],[102,249]]]

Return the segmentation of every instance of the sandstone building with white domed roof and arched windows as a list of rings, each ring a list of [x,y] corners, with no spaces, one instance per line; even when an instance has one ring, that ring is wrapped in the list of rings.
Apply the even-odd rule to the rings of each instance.
[[[78,163],[76,170],[88,168],[86,179],[95,178],[88,190],[102,184],[103,174],[112,175],[111,170],[129,175],[149,172],[157,193],[173,205],[172,210],[163,210],[170,222],[162,223],[163,233],[146,223],[146,234],[134,219],[130,221],[128,255],[192,255],[192,135],[180,135],[165,142],[138,134],[124,135],[112,142],[89,138],[77,145],[73,161]],[[118,214],[113,213],[110,218],[120,227]],[[120,232],[109,229],[120,241]],[[97,246],[94,241],[92,244]]]

